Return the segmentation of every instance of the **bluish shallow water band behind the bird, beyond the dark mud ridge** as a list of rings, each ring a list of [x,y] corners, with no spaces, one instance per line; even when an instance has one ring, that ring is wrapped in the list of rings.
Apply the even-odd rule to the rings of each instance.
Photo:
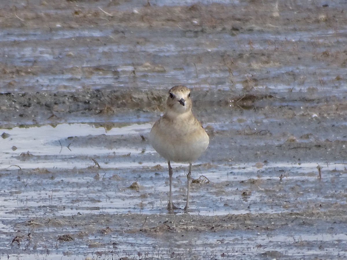
[[[233,2],[233,5],[241,3]],[[114,84],[121,88],[134,85],[161,89],[184,82],[188,87],[239,91],[244,88],[245,77],[251,87],[277,92],[318,87],[331,95],[346,90],[343,81],[335,80],[344,75],[345,68],[327,69],[322,62],[324,53],[329,62],[333,62],[334,55],[335,60],[338,59],[339,46],[346,44],[346,28],[318,31],[315,28],[311,32],[295,26],[283,30],[275,25],[269,28],[252,25],[242,33],[238,30],[230,32],[224,28],[206,33],[193,27],[188,31],[180,28],[128,31],[105,25],[75,29],[56,27],[44,32],[27,28],[6,30],[0,35],[5,45],[0,62],[11,60],[11,66],[28,67],[29,71],[24,70],[16,77],[15,85],[10,84],[14,79],[6,76],[0,90],[2,93],[71,91],[85,87],[112,88]],[[97,42],[85,46],[80,44],[84,39],[107,44]],[[15,46],[11,44],[13,41],[17,43]],[[263,52],[260,55],[265,56],[265,63],[257,58],[258,52]],[[271,55],[267,53],[278,52],[287,52],[287,60],[266,58]],[[235,56],[241,58],[238,66],[228,63],[228,60],[233,62]],[[297,57],[294,64],[293,56]],[[207,62],[210,63],[208,69],[205,68]],[[36,64],[46,69],[36,71]],[[232,66],[232,75],[228,66]],[[54,70],[49,69],[52,67]]]

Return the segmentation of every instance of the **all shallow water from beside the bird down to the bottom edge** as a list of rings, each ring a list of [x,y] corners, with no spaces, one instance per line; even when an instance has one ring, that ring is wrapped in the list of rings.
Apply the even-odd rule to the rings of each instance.
[[[1,190],[0,216],[3,224],[0,237],[6,240],[7,234],[13,233],[14,221],[20,223],[32,220],[33,223],[37,223],[36,225],[41,225],[39,223],[47,219],[62,218],[61,221],[64,222],[66,217],[90,214],[97,216],[130,213],[149,217],[153,214],[165,215],[168,192],[166,163],[154,153],[147,142],[142,144],[139,140],[140,135],[148,135],[150,127],[151,124],[129,124],[105,130],[91,124],[60,124],[55,127],[43,125],[4,130],[10,136],[3,140],[4,146],[1,152],[1,161],[3,165],[6,163],[4,165],[6,170],[1,173],[0,185],[7,188]],[[124,147],[121,145],[112,149],[107,147],[111,140],[117,138],[127,140]],[[69,140],[72,141],[70,149],[66,147]],[[134,147],[139,144],[140,146],[129,150],[129,144],[133,144]],[[13,145],[17,146],[17,150],[12,151]],[[213,147],[212,143],[210,149],[215,148],[218,149],[218,146]],[[20,153],[26,150],[32,156],[20,156]],[[90,158],[94,158],[100,168],[94,165]],[[158,164],[162,167],[152,168]],[[193,178],[204,176],[210,183],[192,184],[190,215],[223,217],[230,214],[243,216],[249,213],[301,214],[307,207],[318,207],[321,212],[329,211],[332,201],[338,202],[340,207],[346,205],[344,185],[347,181],[346,165],[344,163],[325,165],[324,162],[319,164],[324,169],[321,180],[318,179],[318,163],[198,164],[193,169]],[[9,165],[17,166],[8,167]],[[174,202],[183,207],[186,167],[181,168],[177,163],[172,166],[178,167],[174,174]],[[207,179],[202,178],[202,180]],[[129,188],[133,182],[139,184],[138,190]],[[178,211],[177,216],[180,215],[185,214],[183,211]],[[195,228],[194,225],[192,228]],[[65,232],[74,233],[74,228],[64,229]],[[191,256],[224,253],[241,259],[247,256],[254,257],[255,254],[261,255],[264,252],[271,254],[272,250],[278,250],[278,246],[281,245],[280,252],[286,252],[285,255],[295,258],[320,254],[321,251],[312,246],[297,251],[298,243],[305,243],[307,246],[312,242],[325,244],[324,252],[329,252],[330,257],[337,257],[336,243],[342,246],[340,249],[344,248],[338,241],[345,241],[346,236],[336,228],[331,231],[332,233],[326,234],[324,228],[322,231],[304,228],[299,233],[289,229],[288,234],[280,231],[248,234],[208,232],[194,238],[186,233],[185,239],[178,237],[174,239],[174,252],[176,255]],[[162,238],[149,238],[145,234],[134,236],[131,233],[116,232],[107,238],[111,242],[105,242],[105,237],[99,235],[91,235],[86,239],[92,240],[92,244],[96,243],[98,251],[107,251],[105,255],[124,256],[125,252],[132,255],[134,246],[136,252],[144,255],[154,254],[153,258],[156,258],[155,254],[160,256],[159,258],[169,257],[172,254],[170,246]],[[112,244],[112,241],[118,241],[117,250],[110,249],[109,244]],[[193,251],[187,251],[184,246],[187,243],[194,245]],[[47,250],[47,246],[47,244],[35,246],[37,257]],[[160,249],[167,246],[168,250]],[[21,244],[16,246],[16,242],[10,246],[9,243],[4,243],[1,250],[10,252],[17,247],[20,249],[23,246]],[[212,251],[208,249],[210,247],[213,248]],[[70,252],[67,259],[85,259],[88,255],[91,257],[87,253],[90,251],[88,246],[84,250],[81,248],[76,251],[74,244],[65,242],[59,243],[58,248],[49,251],[67,250]],[[279,253],[276,252],[274,254]],[[44,258],[56,259],[58,255],[60,254],[49,253]],[[20,254],[11,255],[10,259],[17,257],[22,259]],[[23,259],[27,257],[30,255],[25,254]]]

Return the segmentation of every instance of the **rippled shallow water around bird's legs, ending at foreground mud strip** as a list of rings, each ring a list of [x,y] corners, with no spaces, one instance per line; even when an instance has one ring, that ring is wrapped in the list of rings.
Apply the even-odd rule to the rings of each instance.
[[[10,190],[5,189],[2,193],[3,196],[7,194],[1,205],[2,216],[18,217],[19,206],[33,207],[32,213],[26,211],[25,215],[34,217],[39,213],[36,207],[45,209],[46,203],[54,207],[44,210],[45,214],[54,215],[87,213],[90,207],[95,213],[165,213],[168,175],[163,159],[147,143],[141,147],[135,145],[133,149],[128,145],[107,147],[108,142],[117,137],[131,143],[140,135],[148,135],[150,128],[151,124],[131,124],[106,131],[90,124],[60,124],[6,130],[10,136],[3,140],[0,158],[7,171],[3,171],[1,186]],[[80,141],[74,142],[76,138]],[[17,149],[13,151],[14,146]],[[94,165],[93,159],[100,168]],[[152,168],[157,164],[162,168]],[[314,188],[319,164],[330,177],[324,177]],[[203,176],[201,180],[209,180],[211,184],[193,185],[192,214],[244,214],[253,210],[282,212],[282,203],[272,201],[273,192],[276,196],[287,197],[289,205],[296,204],[296,210],[301,208],[301,200],[320,197],[320,202],[328,203],[331,192],[344,191],[345,175],[339,172],[344,172],[346,165],[319,164],[277,162],[195,166],[193,177]],[[172,166],[180,167],[181,164],[173,163]],[[183,166],[178,168],[174,181],[179,203],[184,198],[186,185],[186,165]],[[339,181],[329,191],[324,185],[329,185],[331,177]],[[18,183],[13,187],[11,183],[16,178]],[[137,191],[131,192],[128,187],[133,182],[139,183],[140,193],[149,196],[141,197]],[[292,187],[296,187],[296,192],[290,192]],[[104,191],[100,193],[101,190]],[[89,195],[84,197],[84,194]],[[98,198],[96,201],[93,201],[94,196]],[[75,200],[79,202],[76,204]],[[139,206],[141,203],[143,206]],[[64,208],[58,205],[64,205]]]

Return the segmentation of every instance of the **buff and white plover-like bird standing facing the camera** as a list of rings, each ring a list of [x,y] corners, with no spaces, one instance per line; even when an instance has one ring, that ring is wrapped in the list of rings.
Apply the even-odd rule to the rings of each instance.
[[[174,86],[169,90],[166,111],[150,131],[149,141],[154,150],[168,162],[169,168],[169,212],[177,208],[172,203],[172,168],[170,162],[189,163],[187,174],[187,202],[189,210],[189,188],[192,180],[192,163],[207,149],[210,138],[192,112],[191,91],[185,86]]]

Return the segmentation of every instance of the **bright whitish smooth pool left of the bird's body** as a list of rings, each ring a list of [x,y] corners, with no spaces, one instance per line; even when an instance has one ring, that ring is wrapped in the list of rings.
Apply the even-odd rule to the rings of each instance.
[[[116,147],[115,149],[95,147],[88,145],[87,142],[83,147],[74,147],[71,146],[69,139],[73,137],[97,137],[98,135],[139,136],[147,133],[150,128],[151,124],[132,124],[128,127],[123,126],[112,128],[111,130],[106,130],[102,127],[93,127],[90,124],[59,124],[54,127],[51,125],[42,125],[30,128],[16,127],[5,130],[10,137],[2,142],[0,158],[1,162],[8,164],[5,168],[14,168],[11,165],[20,165],[20,168],[71,169],[74,167],[86,167],[90,163],[88,157],[124,155],[128,153],[139,154],[141,150],[139,151],[137,148],[130,149],[128,147]],[[12,147],[16,147],[16,149],[13,151]],[[153,149],[152,152],[154,152]],[[30,160],[30,157],[34,158]],[[71,164],[69,158],[73,157],[81,157],[81,161]],[[52,161],[52,158],[59,159],[59,162]],[[124,164],[120,166],[119,162],[114,162],[109,166],[129,167],[131,165]]]

